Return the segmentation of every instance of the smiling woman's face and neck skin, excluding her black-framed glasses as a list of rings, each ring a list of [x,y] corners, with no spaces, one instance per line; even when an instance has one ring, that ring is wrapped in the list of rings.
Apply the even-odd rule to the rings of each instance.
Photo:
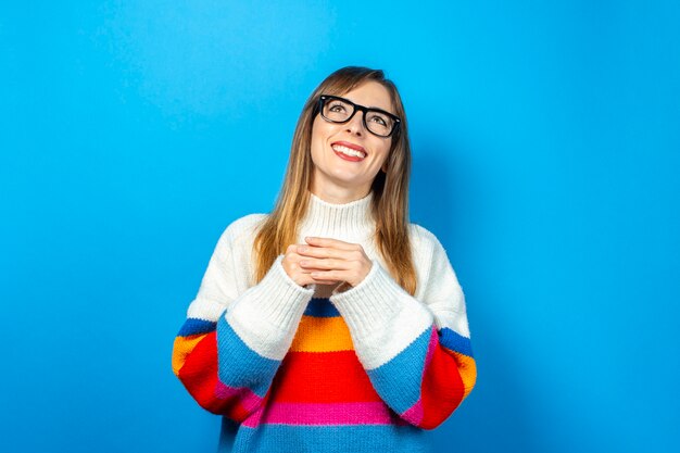
[[[364,83],[339,96],[358,105],[394,113],[389,91],[377,81]],[[387,160],[392,137],[378,137],[366,130],[363,115],[357,110],[344,124],[329,123],[320,114],[314,118],[311,187],[314,194],[327,201],[355,200],[368,194],[373,180]]]

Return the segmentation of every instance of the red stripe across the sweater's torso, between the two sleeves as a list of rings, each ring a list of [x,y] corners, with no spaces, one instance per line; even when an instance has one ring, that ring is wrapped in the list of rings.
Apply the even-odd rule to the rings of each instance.
[[[272,383],[272,401],[381,401],[354,351],[289,352]]]

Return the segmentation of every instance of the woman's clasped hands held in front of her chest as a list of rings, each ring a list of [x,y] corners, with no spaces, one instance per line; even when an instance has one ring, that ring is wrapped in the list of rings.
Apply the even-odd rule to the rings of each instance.
[[[281,261],[286,274],[302,287],[338,282],[355,287],[370,272],[373,263],[357,243],[316,237],[306,237],[305,242],[288,246]]]

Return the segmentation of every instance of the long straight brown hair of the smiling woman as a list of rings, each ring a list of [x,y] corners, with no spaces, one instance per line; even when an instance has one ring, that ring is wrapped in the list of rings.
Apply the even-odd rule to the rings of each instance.
[[[342,96],[366,81],[377,81],[390,92],[392,108],[401,125],[392,136],[386,172],[374,179],[372,212],[376,221],[376,244],[396,282],[412,295],[416,291],[416,273],[408,240],[408,177],[411,144],[406,112],[396,86],[380,70],[342,67],[319,84],[305,102],[295,133],[284,187],[274,211],[260,227],[254,241],[255,279],[260,281],[279,254],[298,238],[298,224],[304,218],[310,203],[310,187],[314,164],[311,154],[312,124],[318,113],[320,95]]]

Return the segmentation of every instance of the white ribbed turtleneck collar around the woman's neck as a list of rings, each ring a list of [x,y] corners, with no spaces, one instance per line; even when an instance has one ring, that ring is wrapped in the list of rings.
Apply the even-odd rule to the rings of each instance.
[[[299,239],[305,236],[339,239],[352,243],[366,243],[373,238],[376,224],[370,203],[373,192],[360,200],[335,204],[310,193],[307,213],[300,224]]]

